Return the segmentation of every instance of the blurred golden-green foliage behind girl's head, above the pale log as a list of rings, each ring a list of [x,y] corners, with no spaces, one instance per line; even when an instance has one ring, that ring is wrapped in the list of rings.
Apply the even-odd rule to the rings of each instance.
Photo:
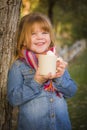
[[[28,0],[30,12],[42,12],[50,18],[57,42],[71,45],[87,39],[87,0]]]

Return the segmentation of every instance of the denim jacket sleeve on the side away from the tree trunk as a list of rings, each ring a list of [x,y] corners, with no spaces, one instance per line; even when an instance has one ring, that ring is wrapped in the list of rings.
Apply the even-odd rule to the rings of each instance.
[[[77,91],[77,85],[70,77],[70,74],[65,70],[64,74],[60,78],[54,79],[53,82],[56,89],[63,94],[64,97],[72,97]]]

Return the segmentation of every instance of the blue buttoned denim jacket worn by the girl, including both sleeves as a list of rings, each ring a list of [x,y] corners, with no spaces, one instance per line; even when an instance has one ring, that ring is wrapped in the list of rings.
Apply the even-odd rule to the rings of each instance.
[[[71,130],[66,98],[77,90],[66,70],[53,84],[63,96],[48,92],[34,80],[35,70],[17,60],[8,73],[7,95],[19,107],[18,130]]]

